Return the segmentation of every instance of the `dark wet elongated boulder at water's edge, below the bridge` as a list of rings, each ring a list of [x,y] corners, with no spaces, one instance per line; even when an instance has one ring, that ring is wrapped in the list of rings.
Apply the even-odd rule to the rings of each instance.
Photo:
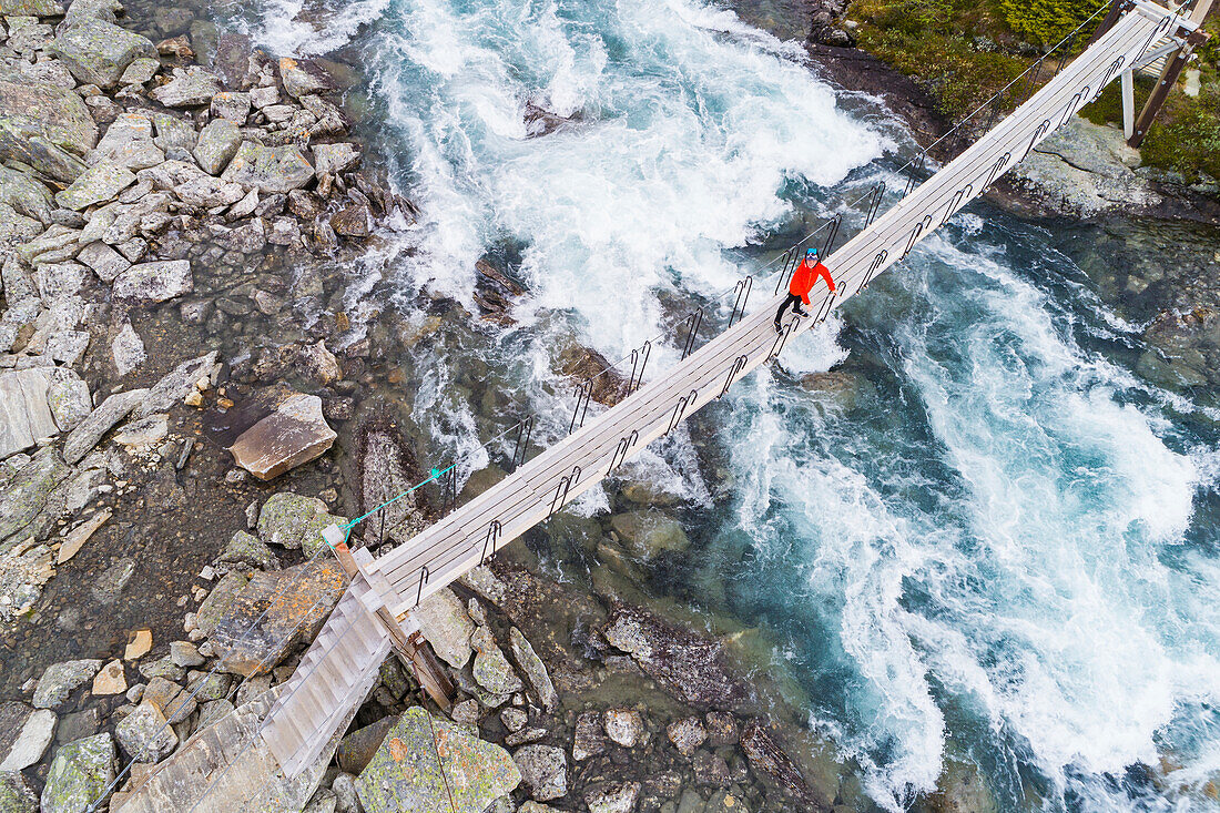
[[[610,646],[626,652],[639,668],[694,706],[731,707],[745,687],[725,665],[723,646],[638,607],[621,605],[603,627]]]

